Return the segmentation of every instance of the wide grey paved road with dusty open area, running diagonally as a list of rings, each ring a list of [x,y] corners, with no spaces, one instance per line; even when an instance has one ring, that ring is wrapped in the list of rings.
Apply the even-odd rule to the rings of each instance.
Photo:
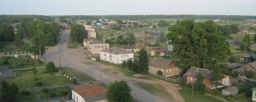
[[[76,59],[75,57],[84,57],[85,59],[86,55],[84,55],[82,51],[78,52],[78,49],[67,48],[66,44],[64,43],[64,40],[68,41],[69,33],[70,33],[70,30],[65,31],[60,36],[60,40],[58,42],[60,45],[49,47],[48,51],[46,52],[45,55],[42,56],[42,58],[46,57],[47,62],[53,61],[55,63],[55,66],[57,67],[61,63],[61,67],[72,67],[98,80],[100,80],[100,74],[101,74],[101,81],[104,83],[113,82],[115,80],[122,80],[121,78],[118,78],[115,75],[109,75],[107,73],[100,71],[99,68],[104,65],[101,65],[101,64],[85,65],[80,62],[79,58]],[[76,54],[76,56],[71,56],[71,53]],[[133,81],[130,81],[130,80],[125,80],[125,81],[127,81],[129,86],[132,88],[131,94],[133,95],[135,100],[139,102],[165,102],[165,100],[160,99],[155,95],[152,95],[144,90],[141,90],[138,86],[135,86],[133,84],[134,83]]]

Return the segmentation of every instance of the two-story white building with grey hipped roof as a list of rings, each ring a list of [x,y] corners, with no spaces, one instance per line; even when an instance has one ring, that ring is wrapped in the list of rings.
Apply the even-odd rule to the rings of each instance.
[[[100,51],[100,59],[115,64],[123,63],[123,61],[133,60],[133,53],[120,47],[111,47]]]

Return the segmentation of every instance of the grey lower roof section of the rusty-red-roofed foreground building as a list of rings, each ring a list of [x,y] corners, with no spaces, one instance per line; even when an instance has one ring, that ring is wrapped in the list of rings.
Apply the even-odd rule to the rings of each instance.
[[[86,102],[95,102],[100,100],[106,100],[107,97],[106,97],[106,94],[99,94],[99,95],[93,95],[93,96],[86,96],[86,97],[83,97],[83,99]]]

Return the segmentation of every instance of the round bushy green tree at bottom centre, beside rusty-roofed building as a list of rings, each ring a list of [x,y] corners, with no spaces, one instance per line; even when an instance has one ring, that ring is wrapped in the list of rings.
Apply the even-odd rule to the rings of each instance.
[[[110,102],[132,102],[131,88],[126,81],[120,80],[109,82],[106,93],[107,100]]]

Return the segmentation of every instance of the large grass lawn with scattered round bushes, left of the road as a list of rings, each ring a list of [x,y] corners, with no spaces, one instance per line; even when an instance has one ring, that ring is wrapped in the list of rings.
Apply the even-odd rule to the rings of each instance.
[[[64,74],[69,75],[70,77],[76,77],[82,82],[96,81],[91,77],[86,76],[83,73],[73,70],[72,68],[58,68],[58,70],[60,70],[61,73],[59,73],[59,71],[54,73],[46,73],[45,68],[39,68],[37,70],[38,70],[38,73],[36,74],[36,77],[38,78],[38,81],[34,80],[35,78],[30,69],[30,70],[16,71],[16,77],[11,76],[6,78],[1,78],[0,82],[2,82],[3,80],[6,80],[8,83],[15,83],[20,88],[20,91],[26,90],[26,73],[27,73],[27,84],[31,94],[29,96],[20,95],[20,99],[22,100],[22,102],[23,101],[26,102],[26,101],[43,99],[43,98],[50,98],[49,94],[52,92],[54,92],[56,96],[63,96],[62,91],[69,92],[70,89],[69,87],[65,86],[65,84],[72,83],[72,80],[64,76]],[[42,82],[43,84],[42,86],[36,86],[36,82]],[[55,86],[55,85],[64,85],[65,87],[61,86],[61,87],[49,88],[48,93],[43,93],[41,91],[45,87]]]

